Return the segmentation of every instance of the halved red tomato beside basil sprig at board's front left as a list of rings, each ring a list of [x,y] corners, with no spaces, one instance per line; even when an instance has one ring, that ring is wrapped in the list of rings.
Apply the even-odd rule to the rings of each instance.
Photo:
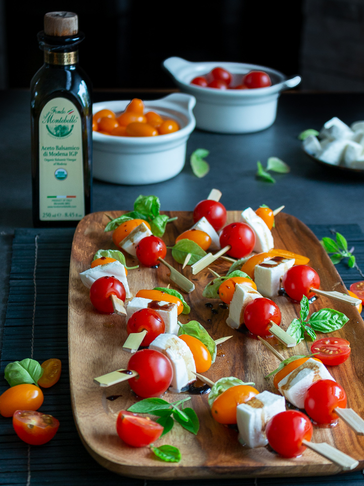
[[[163,427],[154,420],[121,410],[116,419],[116,431],[128,446],[145,447],[159,439]]]

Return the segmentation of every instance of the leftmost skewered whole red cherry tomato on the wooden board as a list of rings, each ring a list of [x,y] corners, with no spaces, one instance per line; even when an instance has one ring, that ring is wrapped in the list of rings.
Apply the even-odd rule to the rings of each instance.
[[[115,277],[100,277],[94,281],[90,288],[90,301],[99,312],[113,314],[114,308],[110,297],[116,295],[125,301],[125,289],[122,283]]]

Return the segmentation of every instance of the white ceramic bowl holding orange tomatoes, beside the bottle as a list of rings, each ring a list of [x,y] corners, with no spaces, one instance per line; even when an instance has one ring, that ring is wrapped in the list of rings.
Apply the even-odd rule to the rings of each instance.
[[[95,103],[93,113],[107,108],[124,111],[127,101]],[[192,112],[196,99],[173,93],[145,102],[145,111],[156,111],[164,118],[177,121],[180,130],[156,137],[115,137],[93,132],[94,177],[106,182],[127,185],[154,184],[179,174],[185,165],[187,140],[196,121]]]

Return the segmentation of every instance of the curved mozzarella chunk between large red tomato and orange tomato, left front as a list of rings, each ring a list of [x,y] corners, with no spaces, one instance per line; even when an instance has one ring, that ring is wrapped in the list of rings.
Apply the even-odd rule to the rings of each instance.
[[[185,341],[174,334],[160,334],[149,345],[149,349],[163,353],[170,360],[173,378],[169,390],[172,393],[186,391],[190,383],[196,381],[195,360]]]

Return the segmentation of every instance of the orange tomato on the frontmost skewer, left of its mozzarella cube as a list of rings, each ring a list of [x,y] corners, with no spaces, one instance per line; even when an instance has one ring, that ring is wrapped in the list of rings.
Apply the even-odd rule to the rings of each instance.
[[[219,424],[236,424],[236,409],[238,405],[245,403],[258,393],[258,390],[250,385],[237,385],[228,388],[212,403],[212,417]]]

